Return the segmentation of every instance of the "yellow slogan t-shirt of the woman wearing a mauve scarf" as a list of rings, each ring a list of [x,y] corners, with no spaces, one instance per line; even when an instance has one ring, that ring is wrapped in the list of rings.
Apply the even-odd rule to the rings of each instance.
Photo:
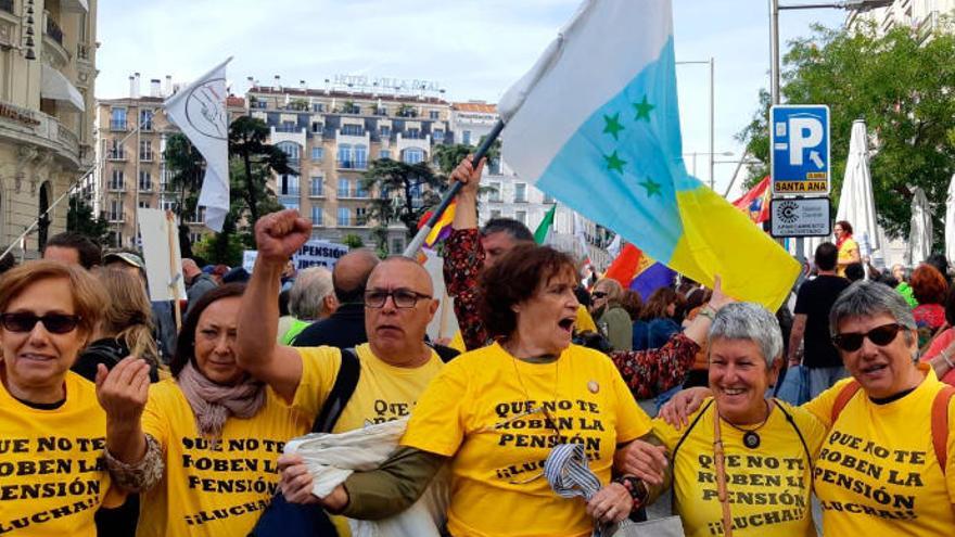
[[[333,359],[338,349],[300,351],[303,379],[324,379],[327,395],[338,373]],[[304,387],[300,385],[296,398]],[[307,401],[323,399],[324,395]],[[266,388],[262,410],[250,419],[230,417],[216,444],[200,434],[195,414],[175,380],[150,386],[142,427],[162,446],[166,469],[163,480],[141,497],[137,536],[249,534],[278,490],[276,461],[285,442],[308,432],[318,408],[290,406]]]

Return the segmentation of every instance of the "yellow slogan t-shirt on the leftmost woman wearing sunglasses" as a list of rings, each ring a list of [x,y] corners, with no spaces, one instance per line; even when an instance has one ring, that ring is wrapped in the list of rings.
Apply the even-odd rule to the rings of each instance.
[[[53,410],[20,402],[0,384],[0,534],[96,536],[93,514],[122,499],[103,461],[106,413],[76,373]],[[115,500],[115,501],[114,501]]]

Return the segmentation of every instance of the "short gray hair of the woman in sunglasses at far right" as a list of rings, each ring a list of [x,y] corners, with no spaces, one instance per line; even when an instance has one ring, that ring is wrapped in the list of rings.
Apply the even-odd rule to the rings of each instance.
[[[884,283],[860,280],[842,292],[829,311],[829,334],[836,335],[839,323],[853,317],[888,314],[895,322],[909,330],[918,330],[912,308],[897,291]]]

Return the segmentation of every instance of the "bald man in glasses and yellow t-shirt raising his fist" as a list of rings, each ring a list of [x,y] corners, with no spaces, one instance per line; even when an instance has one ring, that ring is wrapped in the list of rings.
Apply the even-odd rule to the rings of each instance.
[[[242,298],[238,360],[296,409],[314,417],[339,375],[341,351],[280,346],[273,333],[266,333],[275,331],[278,320],[284,259],[310,238],[310,225],[294,210],[267,215],[256,225],[259,254]],[[365,293],[368,344],[355,348],[358,383],[332,432],[397,420],[411,412],[443,366],[424,343],[428,323],[437,310],[433,293],[431,277],[412,259],[389,258],[372,270]]]

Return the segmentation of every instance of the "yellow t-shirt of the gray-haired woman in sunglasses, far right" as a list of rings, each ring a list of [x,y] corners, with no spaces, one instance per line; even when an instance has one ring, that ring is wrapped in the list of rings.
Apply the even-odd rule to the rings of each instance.
[[[860,389],[835,424],[832,406],[851,379],[804,405],[829,426],[813,472],[824,534],[955,533],[955,431],[950,429],[943,475],[932,447],[931,407],[944,384],[931,368],[919,369],[926,378],[911,394],[876,405]],[[953,423],[955,405],[950,405],[950,427]]]

